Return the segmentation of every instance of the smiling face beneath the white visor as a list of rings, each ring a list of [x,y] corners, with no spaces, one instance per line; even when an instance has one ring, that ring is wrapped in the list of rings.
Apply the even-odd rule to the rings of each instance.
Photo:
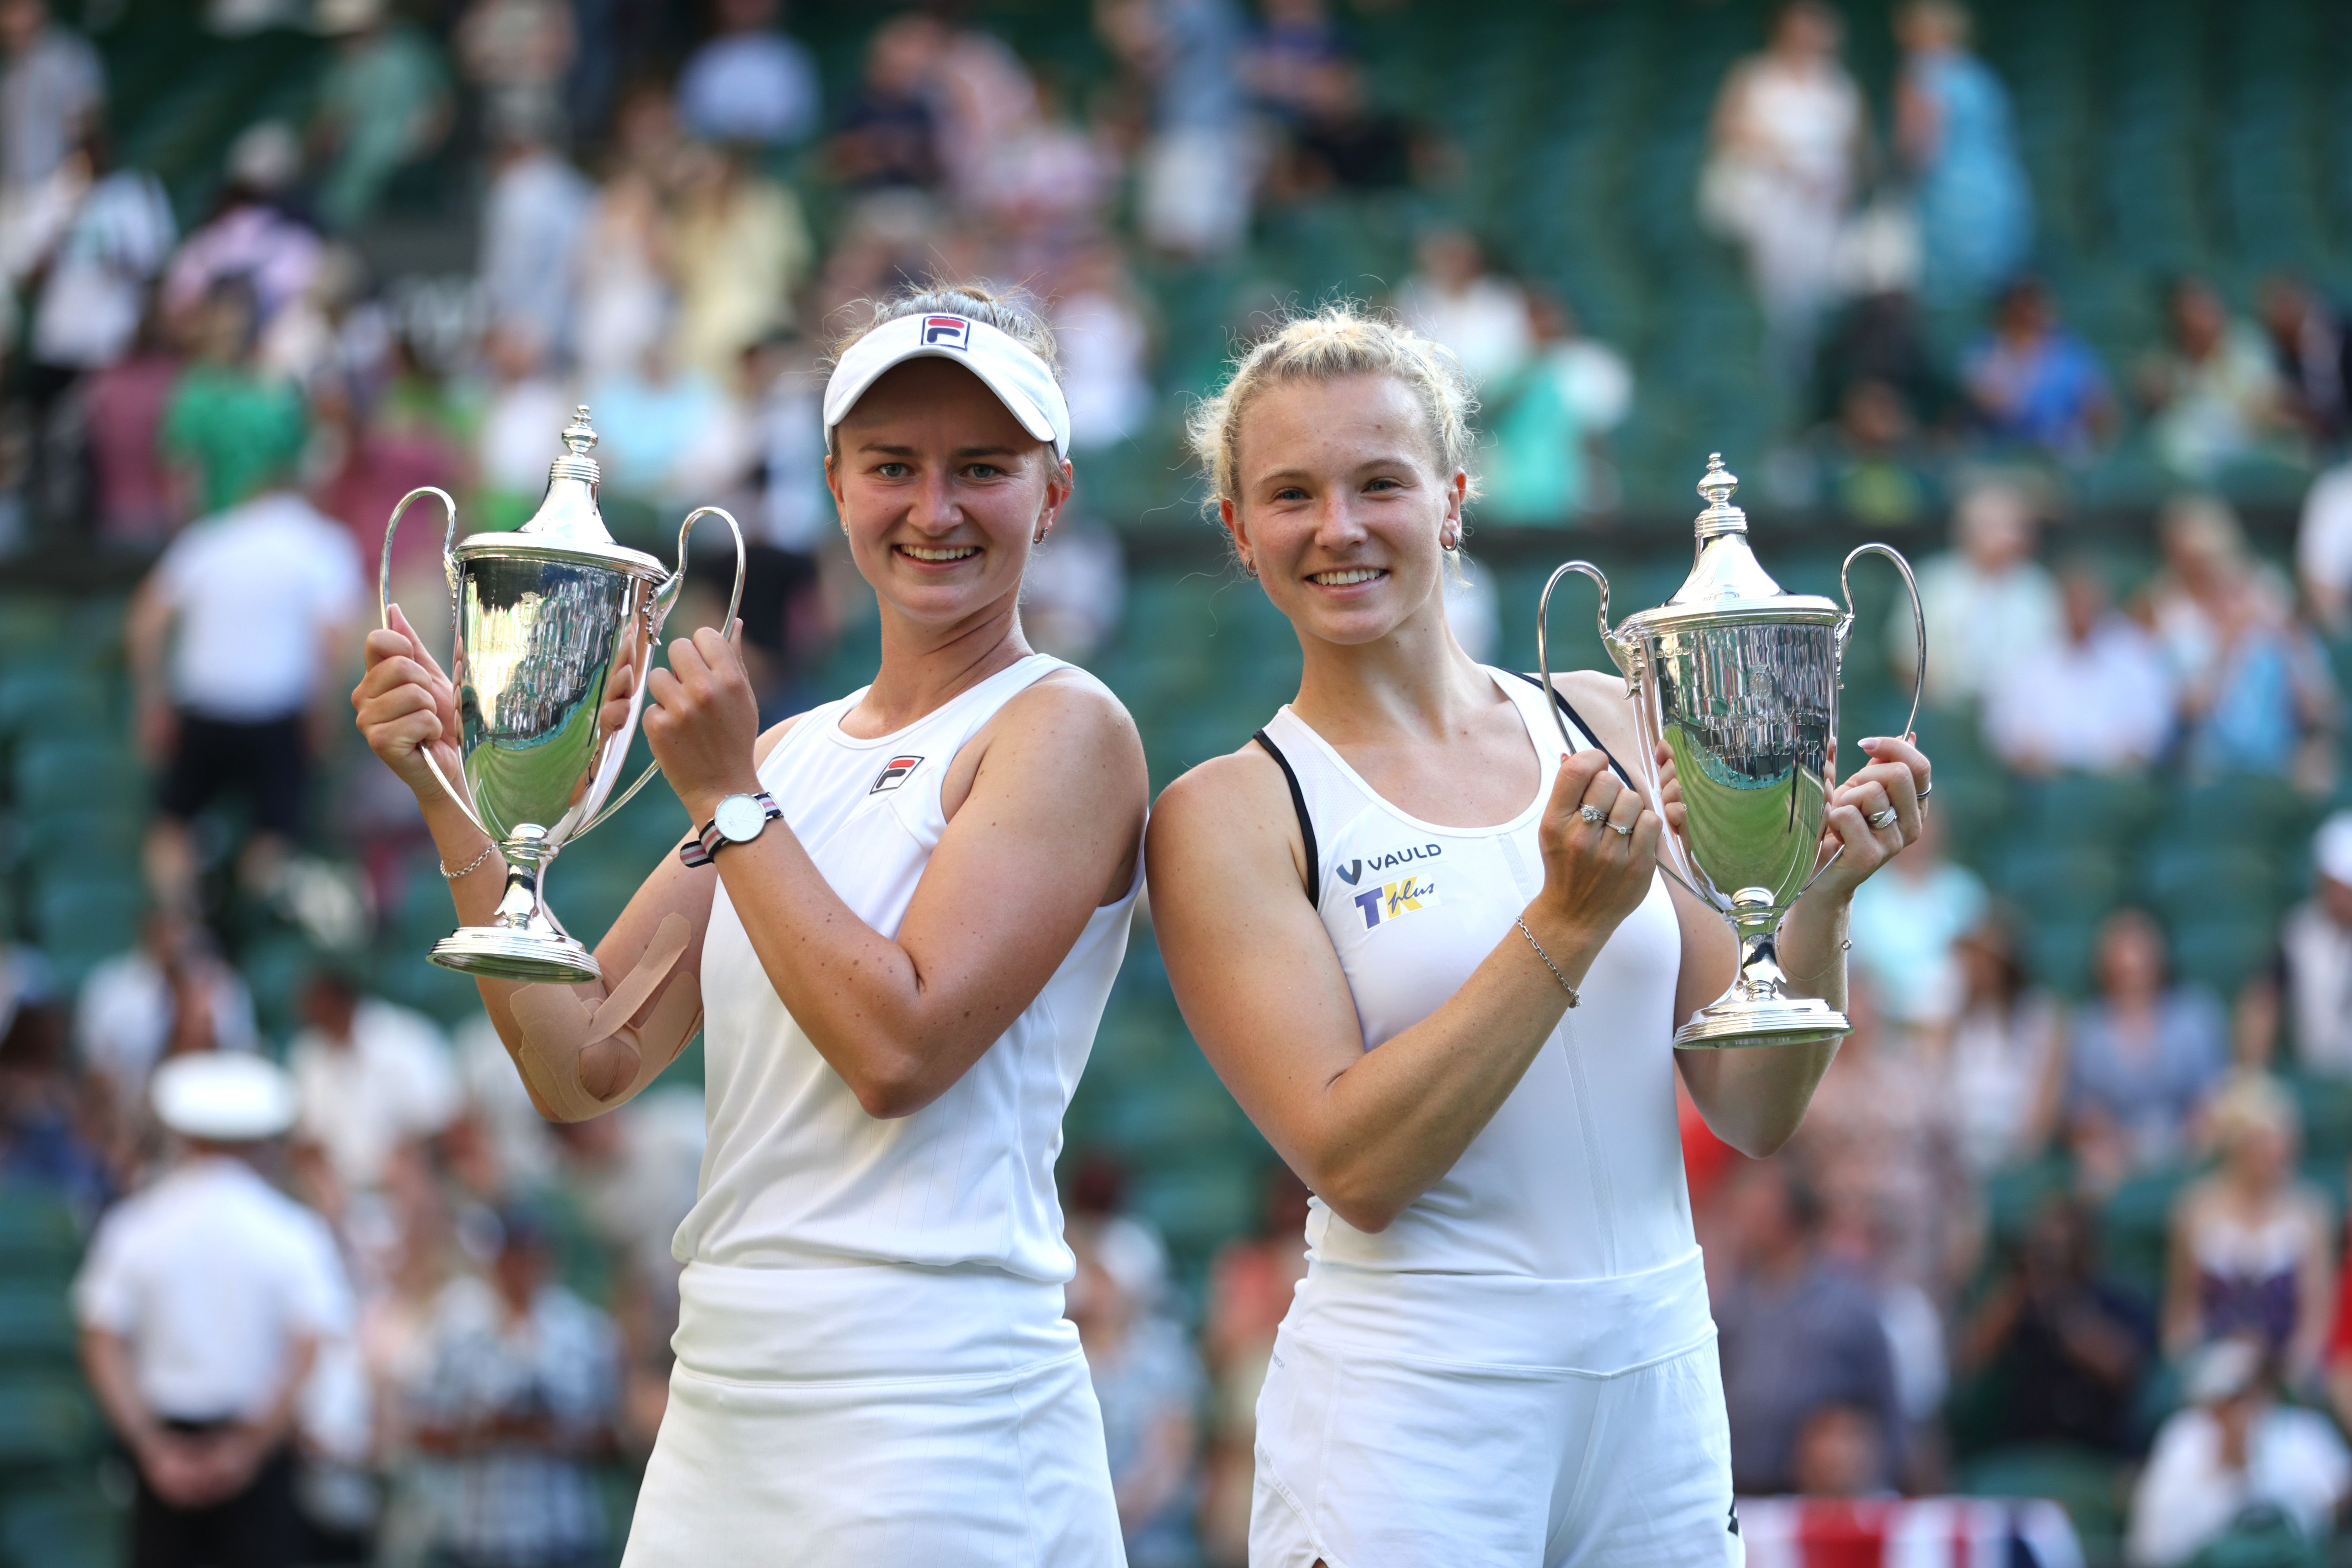
[[[941,625],[1014,599],[1070,498],[1070,465],[948,360],[875,381],[835,425],[826,480],[882,602]]]

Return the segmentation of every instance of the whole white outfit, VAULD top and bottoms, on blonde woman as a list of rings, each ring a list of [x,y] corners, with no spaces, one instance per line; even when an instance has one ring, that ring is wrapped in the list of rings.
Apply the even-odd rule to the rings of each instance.
[[[1489,675],[1541,759],[1498,827],[1406,816],[1289,708],[1258,736],[1291,780],[1367,1051],[1517,938],[1543,886],[1559,738],[1541,686]],[[1437,1185],[1381,1234],[1310,1206],[1308,1276],[1258,1396],[1254,1568],[1745,1561],[1675,1126],[1679,969],[1656,877]]]

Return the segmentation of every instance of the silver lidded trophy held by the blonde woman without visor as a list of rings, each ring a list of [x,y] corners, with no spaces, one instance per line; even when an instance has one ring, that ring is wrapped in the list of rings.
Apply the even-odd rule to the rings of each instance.
[[[1858,545],[1837,574],[1839,609],[1813,595],[1780,592],[1755,550],[1748,515],[1731,505],[1738,477],[1722,454],[1708,458],[1698,494],[1698,559],[1672,599],[1625,616],[1609,630],[1609,578],[1592,562],[1569,562],[1543,585],[1536,607],[1536,665],[1550,682],[1545,651],[1552,588],[1571,571],[1602,590],[1599,628],[1609,658],[1625,675],[1625,696],[1642,731],[1639,783],[1658,816],[1658,748],[1682,785],[1684,825],[1661,839],[1661,865],[1675,882],[1715,905],[1740,938],[1740,973],[1731,990],[1675,1030],[1677,1046],[1795,1046],[1846,1034],[1846,1016],[1818,997],[1783,992],[1773,938],[1780,917],[1813,879],[1820,818],[1828,811],[1830,745],[1837,736],[1839,663],[1853,632],[1849,574],[1860,555],[1884,555],[1903,574],[1926,679],[1926,616],[1910,562],[1889,545]],[[1910,733],[1919,717],[1912,686]],[[1555,703],[1562,745],[1569,726]],[[1573,750],[1573,745],[1571,745]]]

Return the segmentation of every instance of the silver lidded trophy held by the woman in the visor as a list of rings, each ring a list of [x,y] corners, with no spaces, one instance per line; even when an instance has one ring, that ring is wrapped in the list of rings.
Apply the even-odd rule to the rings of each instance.
[[[546,870],[564,844],[619,811],[659,771],[647,766],[614,797],[644,705],[661,623],[687,581],[687,534],[724,517],[736,541],[736,585],[727,628],[743,602],[743,529],[715,505],[677,527],[677,569],[614,543],[597,510],[600,468],[588,451],[588,409],[562,433],[564,456],[548,470],[539,512],[513,534],[456,536],[447,491],[412,489],[383,527],[376,609],[393,623],[393,534],[419,496],[449,517],[442,569],[449,576],[456,651],[461,778],[426,766],[456,809],[506,856],[506,893],[487,926],[461,926],[433,943],[433,961],[494,980],[579,985],[602,976],[546,900]]]

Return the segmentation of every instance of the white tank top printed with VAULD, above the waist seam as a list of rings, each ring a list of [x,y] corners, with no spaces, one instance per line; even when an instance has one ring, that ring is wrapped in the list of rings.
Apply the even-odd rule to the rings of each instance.
[[[1364,1048],[1421,1023],[1470,978],[1543,886],[1536,827],[1559,771],[1543,691],[1489,670],[1536,745],[1526,809],[1498,827],[1437,827],[1381,799],[1287,705],[1265,726],[1315,830],[1317,912]],[[1571,726],[1578,745],[1592,745]],[[1524,938],[1522,938],[1524,940]],[[1675,1124],[1682,929],[1665,879],[1616,929],[1526,1077],[1428,1192],[1362,1232],[1315,1199],[1310,1265],[1348,1272],[1597,1281],[1693,1265]],[[1672,1269],[1677,1281],[1696,1269]],[[1679,1286],[1677,1286],[1679,1288]]]

